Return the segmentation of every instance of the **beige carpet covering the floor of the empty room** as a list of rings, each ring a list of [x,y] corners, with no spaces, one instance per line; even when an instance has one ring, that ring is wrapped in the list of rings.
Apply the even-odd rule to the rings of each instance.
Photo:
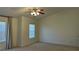
[[[24,48],[14,48],[6,51],[78,51],[78,47],[69,47],[48,43],[35,43],[31,46]]]

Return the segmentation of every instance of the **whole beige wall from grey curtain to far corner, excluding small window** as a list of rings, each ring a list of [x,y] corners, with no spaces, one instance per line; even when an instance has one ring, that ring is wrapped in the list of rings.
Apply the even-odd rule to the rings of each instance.
[[[29,24],[36,24],[36,37],[29,39]],[[34,18],[19,16],[12,18],[12,46],[23,47],[38,42],[38,23]]]

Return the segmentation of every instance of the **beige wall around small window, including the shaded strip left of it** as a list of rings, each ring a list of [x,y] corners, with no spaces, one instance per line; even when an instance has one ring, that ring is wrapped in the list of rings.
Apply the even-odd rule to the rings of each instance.
[[[19,17],[18,20],[18,43],[20,46],[27,46],[34,42],[38,41],[38,33],[37,33],[37,21],[35,19],[31,19],[25,16]],[[35,23],[36,24],[36,38],[35,39],[29,39],[29,24]]]

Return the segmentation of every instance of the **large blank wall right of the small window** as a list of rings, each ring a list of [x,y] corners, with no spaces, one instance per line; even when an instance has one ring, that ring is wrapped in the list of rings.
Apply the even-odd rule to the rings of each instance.
[[[64,10],[43,18],[40,41],[79,47],[79,10]]]

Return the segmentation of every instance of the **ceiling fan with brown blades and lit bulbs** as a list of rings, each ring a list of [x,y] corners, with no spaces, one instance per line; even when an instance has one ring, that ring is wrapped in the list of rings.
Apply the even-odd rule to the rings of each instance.
[[[42,8],[31,8],[28,9],[28,12],[30,13],[30,15],[32,16],[38,16],[38,15],[43,15],[44,13],[44,9]]]

